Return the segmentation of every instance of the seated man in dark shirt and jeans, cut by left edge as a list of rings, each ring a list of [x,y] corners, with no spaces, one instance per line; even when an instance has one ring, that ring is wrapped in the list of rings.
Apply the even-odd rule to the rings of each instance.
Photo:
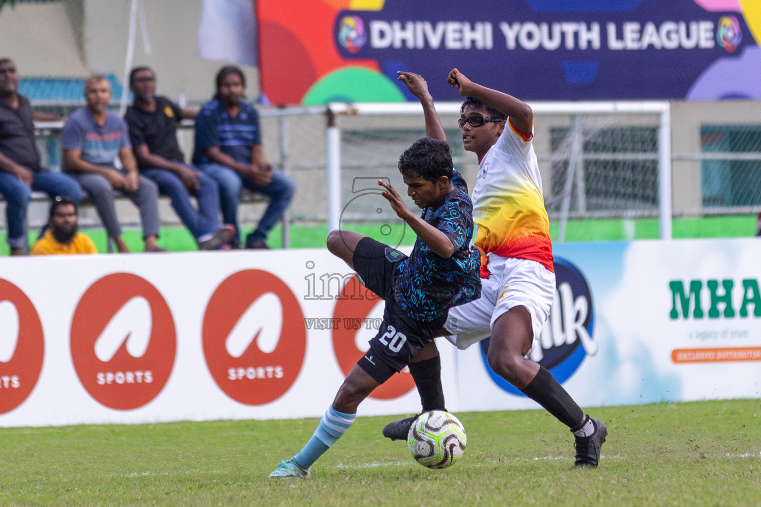
[[[0,59],[0,194],[5,197],[8,246],[11,255],[24,255],[27,245],[27,206],[32,191],[51,198],[68,197],[78,203],[84,193],[69,176],[40,166],[34,144],[34,120],[56,120],[33,112],[27,97],[18,93],[18,73],[10,59]]]

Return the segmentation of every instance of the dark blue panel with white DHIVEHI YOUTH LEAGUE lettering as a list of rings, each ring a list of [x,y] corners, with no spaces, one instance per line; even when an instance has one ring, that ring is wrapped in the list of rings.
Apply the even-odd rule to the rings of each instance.
[[[399,70],[431,76],[434,97],[451,96],[435,77],[458,67],[533,100],[656,99],[686,97],[710,65],[756,46],[742,16],[692,0],[575,2],[575,10],[563,8],[574,2],[418,3],[342,11],[338,36],[349,19],[365,26],[363,37],[344,37],[342,57],[376,60],[390,78]]]

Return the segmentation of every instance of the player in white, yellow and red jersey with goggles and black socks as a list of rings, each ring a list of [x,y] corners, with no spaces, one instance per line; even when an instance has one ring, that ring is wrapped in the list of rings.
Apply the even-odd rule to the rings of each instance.
[[[399,74],[422,103],[426,131],[443,135],[425,80],[411,72]],[[549,219],[532,143],[533,112],[521,100],[476,84],[456,68],[447,82],[465,97],[459,120],[463,147],[479,160],[473,221],[478,227],[474,243],[481,254],[482,296],[451,308],[441,334],[460,349],[491,336],[489,366],[571,429],[576,467],[597,467],[607,436],[605,423],[584,414],[547,369],[528,359],[532,347],[538,346],[555,292]],[[435,342],[412,359],[409,371],[423,410],[443,410]],[[387,424],[384,436],[406,439],[413,420]]]

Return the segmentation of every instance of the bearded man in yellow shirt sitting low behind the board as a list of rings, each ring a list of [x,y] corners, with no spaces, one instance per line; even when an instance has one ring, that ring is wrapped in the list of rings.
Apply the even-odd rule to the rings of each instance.
[[[50,206],[48,227],[34,243],[32,255],[97,253],[92,239],[77,230],[77,204],[56,198]]]

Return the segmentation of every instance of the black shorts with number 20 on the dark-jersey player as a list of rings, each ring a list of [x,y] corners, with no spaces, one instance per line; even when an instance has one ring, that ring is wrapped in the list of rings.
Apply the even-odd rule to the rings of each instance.
[[[375,382],[383,384],[400,372],[423,345],[433,341],[444,326],[447,315],[421,322],[410,318],[393,295],[396,263],[406,258],[402,252],[370,237],[362,238],[354,250],[352,261],[357,276],[369,290],[386,302],[383,322],[370,341],[370,350],[357,364]]]

